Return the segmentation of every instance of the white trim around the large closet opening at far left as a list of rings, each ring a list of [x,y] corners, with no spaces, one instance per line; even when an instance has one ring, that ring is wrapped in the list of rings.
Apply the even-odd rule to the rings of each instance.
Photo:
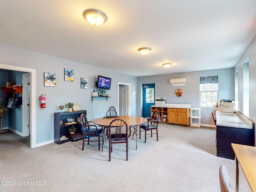
[[[36,69],[0,64],[0,69],[30,72],[30,148],[36,147]]]

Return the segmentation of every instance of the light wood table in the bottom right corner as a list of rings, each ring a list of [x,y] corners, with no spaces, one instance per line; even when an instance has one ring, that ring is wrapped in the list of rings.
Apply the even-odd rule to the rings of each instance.
[[[256,147],[240,144],[231,144],[236,155],[236,192],[238,192],[239,166],[240,164],[244,175],[253,192],[256,192]]]

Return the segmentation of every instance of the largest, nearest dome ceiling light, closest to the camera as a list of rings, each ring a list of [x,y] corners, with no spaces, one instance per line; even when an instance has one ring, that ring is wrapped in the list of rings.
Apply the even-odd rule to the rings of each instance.
[[[84,18],[94,26],[101,25],[108,19],[104,12],[96,9],[87,9],[84,11]]]

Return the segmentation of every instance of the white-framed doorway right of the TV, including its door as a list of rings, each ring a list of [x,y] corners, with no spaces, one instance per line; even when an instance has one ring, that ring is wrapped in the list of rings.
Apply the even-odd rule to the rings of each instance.
[[[130,115],[130,86],[129,83],[118,82],[118,115]]]

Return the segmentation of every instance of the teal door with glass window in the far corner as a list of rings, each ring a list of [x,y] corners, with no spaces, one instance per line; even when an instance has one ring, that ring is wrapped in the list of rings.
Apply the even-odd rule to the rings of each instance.
[[[155,104],[155,84],[142,84],[142,117],[151,116],[151,106]]]

